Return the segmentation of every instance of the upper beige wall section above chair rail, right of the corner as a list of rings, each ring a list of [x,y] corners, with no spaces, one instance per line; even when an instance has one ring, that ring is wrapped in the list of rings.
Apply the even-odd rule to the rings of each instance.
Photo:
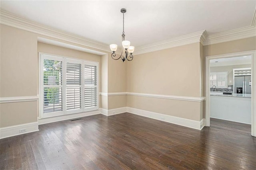
[[[127,63],[127,92],[200,97],[200,45],[134,56]]]

